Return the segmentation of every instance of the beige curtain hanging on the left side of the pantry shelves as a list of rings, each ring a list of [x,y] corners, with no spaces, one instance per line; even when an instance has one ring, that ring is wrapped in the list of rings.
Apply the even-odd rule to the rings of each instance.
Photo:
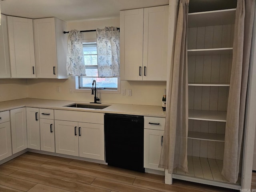
[[[169,173],[176,167],[188,172],[188,3],[189,0],[180,0],[179,3],[164,140],[159,163],[159,167],[168,169]]]

